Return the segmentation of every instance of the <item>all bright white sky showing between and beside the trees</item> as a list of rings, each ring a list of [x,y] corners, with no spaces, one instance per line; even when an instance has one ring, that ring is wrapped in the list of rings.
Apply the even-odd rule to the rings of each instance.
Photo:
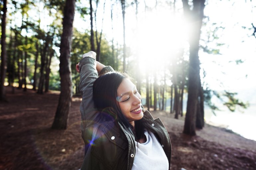
[[[101,20],[103,14],[103,1],[98,5],[97,28],[101,29]],[[128,0],[127,3],[130,3]],[[254,3],[254,4],[253,4]],[[181,11],[180,14],[172,13],[172,6],[164,4],[164,1],[158,1],[157,10],[155,9],[155,1],[146,1],[151,11],[145,12],[144,2],[138,5],[138,32],[136,33],[136,16],[135,4],[126,8],[126,44],[135,52],[139,48],[140,59],[144,62],[154,62],[155,56],[163,62],[167,58],[174,55],[175,51],[186,43],[186,22],[182,15],[182,2],[177,1],[176,9]],[[87,6],[89,6],[87,4]],[[217,23],[216,26],[224,27],[219,29],[217,36],[219,39],[207,45],[219,48],[222,55],[209,55],[199,52],[201,68],[206,71],[205,81],[212,89],[229,89],[237,90],[256,87],[254,83],[254,73],[256,67],[256,38],[248,37],[252,34],[251,23],[256,18],[256,8],[252,11],[255,2],[241,1],[213,1],[209,0],[205,6],[204,14],[209,16],[209,23]],[[123,27],[121,5],[113,7],[113,25],[114,34],[111,30],[110,20],[110,3],[106,1],[103,32],[107,37],[123,43]],[[89,29],[89,16],[86,22],[81,22],[79,15],[75,16],[74,27]],[[255,23],[256,25],[256,23]],[[174,27],[175,26],[175,27]],[[247,27],[246,29],[242,27]],[[209,28],[202,28],[209,29]],[[205,32],[202,30],[202,32]],[[205,34],[207,35],[207,34]],[[203,36],[203,35],[202,35]],[[221,47],[216,47],[215,43],[224,43]],[[137,48],[136,48],[137,47]],[[244,63],[236,65],[235,61],[242,59]],[[214,64],[215,62],[216,64]],[[161,63],[158,63],[161,65]],[[246,78],[247,75],[247,78]],[[202,76],[201,76],[202,77]],[[223,85],[220,84],[223,83]],[[254,88],[255,89],[255,88]]]

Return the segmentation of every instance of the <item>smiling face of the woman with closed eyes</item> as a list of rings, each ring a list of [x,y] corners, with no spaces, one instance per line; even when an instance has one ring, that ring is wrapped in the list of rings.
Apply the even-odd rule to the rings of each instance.
[[[143,117],[141,95],[130,80],[124,79],[117,88],[117,96],[123,115],[134,127],[134,121]]]

